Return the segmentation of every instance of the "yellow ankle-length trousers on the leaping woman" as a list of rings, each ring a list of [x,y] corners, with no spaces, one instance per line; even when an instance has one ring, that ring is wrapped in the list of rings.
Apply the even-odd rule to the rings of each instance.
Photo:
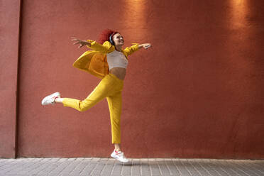
[[[84,100],[64,98],[63,106],[86,111],[106,98],[110,111],[112,143],[121,143],[120,117],[122,109],[123,80],[109,73]]]

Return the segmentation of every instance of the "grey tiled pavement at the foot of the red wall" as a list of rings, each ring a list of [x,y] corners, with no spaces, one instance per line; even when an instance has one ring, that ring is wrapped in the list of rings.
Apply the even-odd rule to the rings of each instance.
[[[264,160],[180,158],[0,158],[0,175],[264,175]]]

